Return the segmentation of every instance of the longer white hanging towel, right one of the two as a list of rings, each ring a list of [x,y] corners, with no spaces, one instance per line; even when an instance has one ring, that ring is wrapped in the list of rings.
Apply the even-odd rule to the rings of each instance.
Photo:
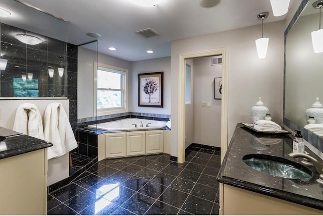
[[[53,144],[48,148],[47,159],[62,156],[77,147],[72,127],[61,103],[47,105],[44,125],[44,138]]]

